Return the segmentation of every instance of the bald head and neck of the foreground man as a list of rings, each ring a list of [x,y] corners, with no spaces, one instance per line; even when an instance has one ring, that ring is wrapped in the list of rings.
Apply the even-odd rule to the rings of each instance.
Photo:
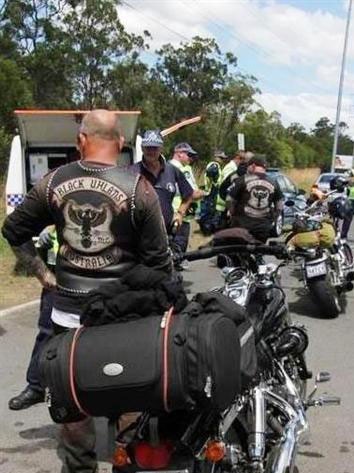
[[[82,159],[116,164],[123,145],[124,137],[114,112],[97,109],[84,116],[78,136]]]

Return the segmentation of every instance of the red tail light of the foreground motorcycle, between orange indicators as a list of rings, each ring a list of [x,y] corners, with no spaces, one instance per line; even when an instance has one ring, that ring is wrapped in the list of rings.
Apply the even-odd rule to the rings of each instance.
[[[158,470],[169,464],[172,451],[173,446],[170,442],[162,442],[156,446],[140,442],[134,449],[135,461],[140,468]]]

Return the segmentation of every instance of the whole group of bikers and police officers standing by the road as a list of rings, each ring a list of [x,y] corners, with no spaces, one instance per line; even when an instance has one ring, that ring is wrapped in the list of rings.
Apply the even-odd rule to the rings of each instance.
[[[176,144],[167,160],[161,133],[148,130],[142,161],[128,169],[117,165],[123,144],[114,113],[87,113],[77,137],[80,160],[46,175],[4,222],[3,236],[43,287],[28,384],[9,401],[10,409],[44,400],[38,373],[41,348],[53,334],[80,326],[91,290],[119,280],[139,264],[176,278],[175,270],[184,268],[195,218],[209,233],[240,226],[266,241],[281,211],[281,191],[267,177],[266,162],[259,156],[238,152],[229,159],[218,151],[198,186],[193,170],[198,153],[189,143]],[[49,226],[55,232],[48,233]],[[38,236],[36,251],[32,239]],[[175,264],[171,248],[182,255]],[[41,257],[48,249],[49,256],[57,253],[54,261]],[[64,471],[97,471],[92,419],[64,424],[60,439]]]

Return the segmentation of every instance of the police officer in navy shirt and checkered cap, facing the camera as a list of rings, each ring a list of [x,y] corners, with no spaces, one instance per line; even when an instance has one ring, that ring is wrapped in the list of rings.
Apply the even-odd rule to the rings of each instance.
[[[133,168],[141,173],[154,187],[161,205],[167,233],[171,233],[175,225],[182,225],[188,207],[192,202],[193,189],[184,174],[166,162],[163,157],[163,138],[159,130],[147,130],[142,139],[143,158]],[[175,210],[173,199],[180,196]]]

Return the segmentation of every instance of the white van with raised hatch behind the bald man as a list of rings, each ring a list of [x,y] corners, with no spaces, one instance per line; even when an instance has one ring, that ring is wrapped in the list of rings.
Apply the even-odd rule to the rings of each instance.
[[[6,180],[6,212],[20,204],[48,171],[78,158],[76,136],[84,110],[16,110],[19,134],[11,144]],[[119,163],[141,160],[139,111],[116,111],[125,137]]]

